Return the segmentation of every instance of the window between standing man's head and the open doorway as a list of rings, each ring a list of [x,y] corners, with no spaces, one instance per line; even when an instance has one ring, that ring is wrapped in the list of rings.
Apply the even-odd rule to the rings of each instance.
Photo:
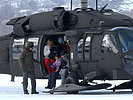
[[[39,38],[29,38],[28,41],[33,42],[34,47],[32,51],[33,51],[34,58],[37,59],[37,46],[38,46]]]

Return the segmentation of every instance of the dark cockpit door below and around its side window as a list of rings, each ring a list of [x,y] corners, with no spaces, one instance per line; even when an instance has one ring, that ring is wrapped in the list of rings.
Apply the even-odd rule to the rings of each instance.
[[[103,40],[106,35],[112,35],[115,39],[115,43],[117,45],[118,52],[103,52]],[[108,40],[108,39],[107,39]],[[116,32],[104,32],[101,40],[101,49],[100,49],[101,56],[99,58],[99,68],[104,70],[108,70],[108,76],[109,79],[118,79],[117,72],[119,69],[121,69],[122,66],[122,59],[121,59],[121,49],[119,45],[119,40],[117,38]],[[113,50],[112,50],[113,51]]]

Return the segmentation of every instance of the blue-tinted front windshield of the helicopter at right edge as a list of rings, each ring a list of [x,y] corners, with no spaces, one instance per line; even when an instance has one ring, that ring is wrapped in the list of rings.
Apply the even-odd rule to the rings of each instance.
[[[133,45],[132,45],[132,43],[133,43],[133,32],[132,31],[119,32],[118,36],[119,36],[119,39],[120,39],[120,43],[121,43],[123,52],[133,50]]]

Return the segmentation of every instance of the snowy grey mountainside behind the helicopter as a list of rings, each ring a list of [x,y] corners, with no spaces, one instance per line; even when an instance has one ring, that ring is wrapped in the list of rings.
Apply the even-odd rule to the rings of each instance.
[[[11,18],[50,11],[57,6],[70,9],[70,2],[71,0],[0,0],[0,34],[12,32],[12,27],[5,25]],[[98,0],[99,9],[107,3],[108,9],[133,16],[133,0]],[[80,7],[80,0],[73,0],[73,9],[77,7]],[[95,9],[95,0],[88,0],[88,7]]]

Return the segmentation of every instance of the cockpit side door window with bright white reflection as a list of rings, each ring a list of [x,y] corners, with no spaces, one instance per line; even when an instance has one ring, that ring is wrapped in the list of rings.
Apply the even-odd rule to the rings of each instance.
[[[106,34],[102,41],[102,53],[118,53],[118,46],[112,34]]]

